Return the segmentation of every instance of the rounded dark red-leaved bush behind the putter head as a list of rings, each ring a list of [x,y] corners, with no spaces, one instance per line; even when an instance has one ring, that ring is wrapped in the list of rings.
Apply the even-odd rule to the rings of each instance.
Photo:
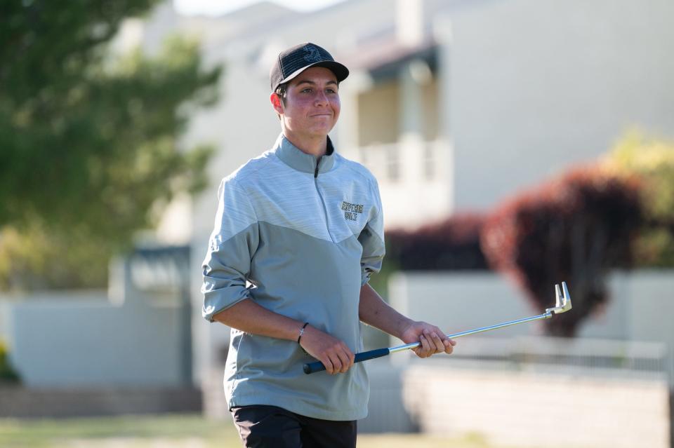
[[[482,229],[482,251],[536,309],[553,306],[555,283],[566,281],[573,310],[546,320],[546,332],[570,337],[607,301],[607,272],[631,266],[642,216],[635,179],[577,168],[496,208]]]

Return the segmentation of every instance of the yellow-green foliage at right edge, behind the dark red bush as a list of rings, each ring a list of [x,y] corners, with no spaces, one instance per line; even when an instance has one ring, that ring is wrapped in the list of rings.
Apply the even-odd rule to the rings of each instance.
[[[635,241],[635,262],[644,267],[674,266],[674,142],[633,130],[603,161],[621,175],[641,179],[645,224]]]

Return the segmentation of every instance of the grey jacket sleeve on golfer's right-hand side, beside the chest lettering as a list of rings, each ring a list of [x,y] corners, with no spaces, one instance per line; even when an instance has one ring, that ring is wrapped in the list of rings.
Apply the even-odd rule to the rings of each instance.
[[[360,283],[369,282],[373,273],[381,271],[381,262],[384,258],[384,219],[381,210],[381,197],[376,180],[373,179],[372,196],[374,206],[370,209],[367,224],[358,236],[363,247],[360,259]]]

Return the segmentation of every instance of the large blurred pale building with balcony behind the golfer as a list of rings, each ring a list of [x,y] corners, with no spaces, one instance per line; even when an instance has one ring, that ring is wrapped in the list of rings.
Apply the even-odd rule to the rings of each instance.
[[[260,3],[217,18],[160,8],[135,33],[148,49],[200,36],[225,64],[222,100],[187,142],[218,151],[211,186],[176,202],[160,229],[192,245],[194,309],[218,179],[279,133],[268,72],[282,48],[314,41],[345,62],[333,140],[374,172],[387,225],[486,210],[591,161],[638,126],[674,136],[674,4],[669,0],[347,0],[313,13]],[[194,316],[197,379],[218,365],[225,327]]]

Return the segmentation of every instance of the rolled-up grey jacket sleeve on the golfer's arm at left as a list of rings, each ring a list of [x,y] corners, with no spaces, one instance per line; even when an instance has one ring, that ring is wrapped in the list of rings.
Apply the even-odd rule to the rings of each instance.
[[[218,211],[203,268],[204,306],[201,315],[213,315],[251,297],[246,280],[259,242],[258,221],[246,192],[233,178],[218,189]]]

